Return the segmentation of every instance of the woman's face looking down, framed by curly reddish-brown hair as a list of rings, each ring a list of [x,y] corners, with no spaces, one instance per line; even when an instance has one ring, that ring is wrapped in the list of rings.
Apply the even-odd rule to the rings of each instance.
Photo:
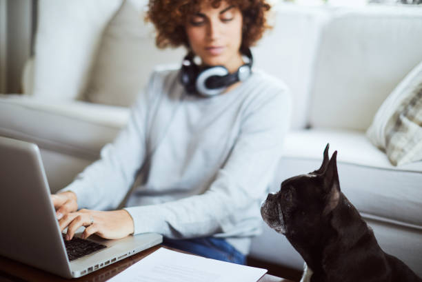
[[[201,10],[185,24],[190,48],[208,66],[225,66],[234,72],[243,64],[239,48],[242,41],[242,14],[239,8],[221,1],[212,8],[202,1]]]

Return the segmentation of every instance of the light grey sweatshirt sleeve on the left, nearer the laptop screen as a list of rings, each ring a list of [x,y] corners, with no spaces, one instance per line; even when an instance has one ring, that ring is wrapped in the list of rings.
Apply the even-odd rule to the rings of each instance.
[[[119,132],[113,143],[101,149],[99,160],[88,165],[70,185],[59,191],[77,194],[79,209],[115,209],[130,190],[145,159],[148,96],[153,84],[154,74],[148,87],[139,94],[132,106],[126,127]]]

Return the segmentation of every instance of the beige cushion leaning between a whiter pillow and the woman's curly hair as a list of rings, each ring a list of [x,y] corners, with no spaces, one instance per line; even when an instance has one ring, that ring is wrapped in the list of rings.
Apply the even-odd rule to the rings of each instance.
[[[86,89],[92,103],[129,106],[148,83],[154,66],[180,64],[185,50],[159,50],[154,28],[144,22],[148,1],[125,0],[105,32]]]

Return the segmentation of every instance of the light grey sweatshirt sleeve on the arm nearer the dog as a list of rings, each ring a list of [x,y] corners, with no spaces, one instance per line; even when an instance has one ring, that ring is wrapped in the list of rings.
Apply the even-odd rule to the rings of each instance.
[[[288,90],[260,96],[246,107],[237,141],[210,188],[177,201],[125,208],[134,221],[134,234],[192,238],[228,233],[239,224],[237,214],[251,205],[259,210],[281,156],[291,109]]]

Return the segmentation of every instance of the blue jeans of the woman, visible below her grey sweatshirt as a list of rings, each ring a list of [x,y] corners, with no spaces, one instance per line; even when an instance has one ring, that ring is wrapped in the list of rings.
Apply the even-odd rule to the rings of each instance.
[[[245,255],[221,238],[205,237],[176,240],[164,237],[163,245],[192,254],[198,254],[208,259],[218,259],[219,261],[228,261],[229,263],[242,265],[246,262]]]

